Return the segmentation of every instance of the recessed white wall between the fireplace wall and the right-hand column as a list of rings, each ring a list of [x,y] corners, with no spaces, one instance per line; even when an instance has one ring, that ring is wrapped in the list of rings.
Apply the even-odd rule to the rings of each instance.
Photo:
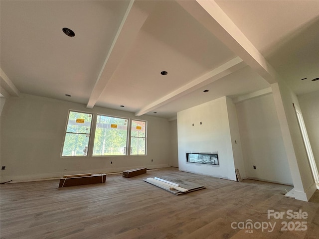
[[[243,101],[236,108],[246,176],[292,185],[273,95]]]

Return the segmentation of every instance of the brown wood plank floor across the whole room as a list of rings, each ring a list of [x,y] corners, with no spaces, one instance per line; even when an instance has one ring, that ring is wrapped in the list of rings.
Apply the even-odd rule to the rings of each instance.
[[[171,176],[206,186],[173,195],[143,181]],[[318,239],[319,190],[310,202],[284,197],[287,185],[241,183],[179,172],[148,171],[134,178],[58,188],[58,180],[0,186],[1,239]],[[308,213],[306,220],[267,219],[267,210]],[[273,232],[232,229],[232,222],[276,222]],[[306,231],[281,231],[283,221],[306,221]]]

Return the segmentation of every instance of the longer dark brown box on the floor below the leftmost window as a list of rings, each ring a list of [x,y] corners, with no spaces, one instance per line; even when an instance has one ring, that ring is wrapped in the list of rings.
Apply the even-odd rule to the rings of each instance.
[[[105,173],[91,174],[87,176],[75,176],[75,177],[72,177],[72,175],[69,175],[68,177],[62,177],[60,179],[59,188],[77,186],[77,185],[94,184],[94,183],[105,183],[105,181],[106,181]]]

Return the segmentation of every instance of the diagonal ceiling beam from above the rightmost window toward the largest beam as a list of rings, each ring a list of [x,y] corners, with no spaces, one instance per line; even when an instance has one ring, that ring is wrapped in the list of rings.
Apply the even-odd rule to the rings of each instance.
[[[187,83],[186,85],[174,90],[173,92],[163,96],[157,101],[152,102],[151,104],[145,106],[135,116],[142,116],[154,109],[157,109],[163,105],[166,105],[169,102],[172,102],[178,99],[181,96],[184,96],[190,92],[193,92],[203,86],[206,86],[224,76],[227,76],[235,71],[246,66],[246,63],[243,62],[239,57],[235,57],[232,60],[226,62],[225,64],[213,69],[212,71],[198,77],[197,79]]]

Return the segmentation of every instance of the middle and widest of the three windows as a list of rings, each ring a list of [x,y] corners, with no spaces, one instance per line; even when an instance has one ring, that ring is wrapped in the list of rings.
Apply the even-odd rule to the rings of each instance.
[[[126,155],[128,119],[98,115],[93,156]]]

